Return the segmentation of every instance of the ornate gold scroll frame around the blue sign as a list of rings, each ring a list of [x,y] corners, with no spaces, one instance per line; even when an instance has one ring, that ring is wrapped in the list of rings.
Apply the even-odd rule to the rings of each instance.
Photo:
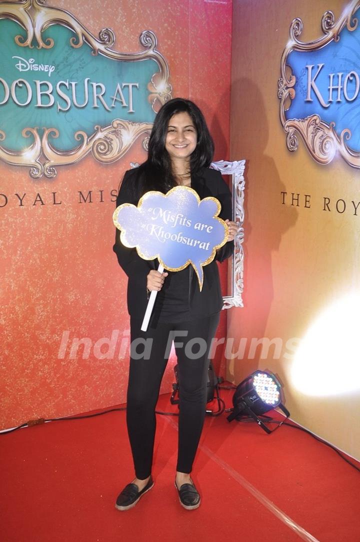
[[[332,11],[326,11],[322,17],[322,30],[324,36],[311,42],[302,42],[299,36],[303,31],[303,21],[295,18],[290,26],[290,40],[288,41],[281,57],[281,77],[278,80],[278,98],[280,100],[280,121],[287,133],[286,145],[288,150],[298,149],[298,134],[304,140],[307,150],[319,164],[329,164],[336,153],[353,167],[360,167],[360,153],[350,149],[346,144],[351,133],[343,130],[340,135],[335,131],[335,123],[320,119],[319,115],[313,114],[305,119],[286,119],[286,112],[290,109],[291,100],[295,98],[295,75],[291,73],[291,67],[287,63],[291,51],[313,51],[321,49],[331,41],[340,40],[340,32],[343,28],[353,31],[357,28],[358,19],[354,16],[360,7],[360,0],[352,0],[339,19],[335,20]]]

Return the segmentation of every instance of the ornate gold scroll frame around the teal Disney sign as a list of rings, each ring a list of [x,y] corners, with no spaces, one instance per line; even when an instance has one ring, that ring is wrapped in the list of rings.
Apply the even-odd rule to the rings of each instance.
[[[18,23],[27,33],[15,37],[18,46],[33,48],[33,41],[37,43],[37,49],[50,49],[54,46],[53,38],[43,40],[44,30],[51,25],[60,24],[72,30],[75,36],[70,38],[70,45],[79,48],[87,43],[92,48],[92,54],[101,54],[109,59],[118,61],[142,61],[145,59],[155,60],[159,72],[152,75],[147,89],[150,94],[148,100],[153,111],[158,109],[171,99],[171,85],[169,84],[169,67],[163,55],[157,48],[157,38],[150,30],[144,30],[139,37],[141,46],[144,48],[139,53],[119,53],[112,49],[115,41],[111,29],[100,30],[99,38],[89,32],[72,14],[68,11],[46,7],[46,0],[22,0],[20,2],[1,2],[0,19],[9,18]],[[111,163],[130,149],[134,140],[140,135],[149,133],[152,124],[148,122],[131,122],[121,119],[113,120],[111,126],[94,126],[94,133],[88,136],[85,132],[75,133],[75,140],[82,142],[74,149],[66,152],[56,150],[48,140],[49,135],[58,137],[56,128],[47,128],[42,137],[38,134],[36,127],[25,128],[22,132],[24,137],[34,138],[34,142],[23,151],[11,151],[0,145],[0,159],[11,165],[30,166],[30,176],[33,178],[42,175],[48,178],[56,176],[55,166],[69,165],[78,162],[90,151],[93,156],[102,163]],[[4,141],[6,134],[0,131],[0,142]],[[143,141],[146,148],[148,137]]]

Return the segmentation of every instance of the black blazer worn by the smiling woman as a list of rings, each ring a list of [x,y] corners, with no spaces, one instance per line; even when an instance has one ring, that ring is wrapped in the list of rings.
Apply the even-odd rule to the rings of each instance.
[[[134,190],[137,170],[125,172],[121,183],[116,205],[123,203],[138,204],[140,194]],[[135,187],[136,188],[136,187]],[[194,189],[200,199],[213,196],[221,203],[220,218],[232,220],[232,197],[227,184],[221,173],[203,167],[196,175],[191,176],[191,188]],[[135,248],[127,248],[120,241],[120,231],[116,230],[113,250],[118,257],[120,266],[128,276],[127,283],[127,310],[128,313],[142,319],[147,305],[146,278],[151,269],[157,269],[159,262],[155,260],[143,260]],[[234,241],[229,241],[217,250],[215,259],[222,262],[233,254]],[[213,260],[203,267],[204,282],[200,292],[194,269],[190,265],[189,273],[189,312],[191,316],[204,318],[210,314],[221,311],[223,306],[220,280],[216,261]]]

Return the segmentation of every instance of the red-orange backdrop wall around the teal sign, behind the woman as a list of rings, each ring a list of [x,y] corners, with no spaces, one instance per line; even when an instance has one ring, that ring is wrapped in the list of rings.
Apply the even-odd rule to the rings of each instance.
[[[120,0],[114,10],[107,0],[57,0],[56,7],[70,11],[94,35],[111,28],[114,48],[123,52],[140,50],[140,33],[152,30],[169,64],[172,96],[197,102],[215,140],[215,159],[228,157],[231,2]],[[1,428],[125,401],[126,277],[112,253],[112,212],[124,171],[144,159],[138,143],[111,165],[88,156],[59,167],[54,180],[34,180],[25,167],[0,162],[0,192],[8,198],[0,209]],[[80,203],[79,191],[89,190],[93,202]],[[54,204],[53,192],[61,204]],[[25,194],[22,205],[16,194]],[[226,334],[225,314],[219,334]],[[99,359],[111,337],[114,355]],[[76,339],[82,339],[78,349]],[[223,374],[220,349],[216,366]],[[163,392],[172,381],[170,363]]]

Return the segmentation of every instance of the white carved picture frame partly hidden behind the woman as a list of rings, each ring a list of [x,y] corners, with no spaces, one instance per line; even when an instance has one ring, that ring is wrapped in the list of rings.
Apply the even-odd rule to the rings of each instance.
[[[244,251],[242,243],[244,240],[245,163],[245,160],[236,162],[225,162],[224,160],[220,160],[220,162],[213,162],[211,164],[213,169],[220,171],[223,175],[232,176],[230,189],[232,190],[233,195],[233,215],[234,220],[240,224],[239,232],[235,236],[235,249],[233,258],[230,261],[231,268],[229,269],[229,272],[231,273],[232,292],[230,295],[225,295],[223,297],[223,308],[243,307]]]

